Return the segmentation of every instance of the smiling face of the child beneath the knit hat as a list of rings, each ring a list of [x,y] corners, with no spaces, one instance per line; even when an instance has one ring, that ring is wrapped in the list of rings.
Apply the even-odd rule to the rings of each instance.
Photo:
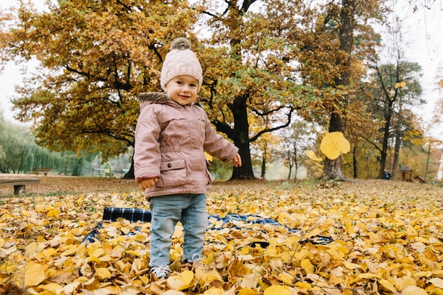
[[[198,80],[192,76],[176,76],[165,86],[168,96],[180,105],[189,105],[197,98]]]

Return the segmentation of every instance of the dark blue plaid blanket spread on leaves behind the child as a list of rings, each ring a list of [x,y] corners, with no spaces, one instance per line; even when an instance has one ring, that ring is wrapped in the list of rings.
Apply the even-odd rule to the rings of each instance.
[[[151,210],[147,209],[138,209],[138,208],[117,208],[117,207],[105,207],[103,211],[103,221],[117,221],[119,218],[127,219],[130,222],[151,222]],[[209,219],[215,219],[217,221],[222,221],[223,226],[221,228],[229,227],[230,229],[241,229],[241,227],[236,226],[235,224],[238,221],[241,221],[244,224],[270,224],[273,226],[283,226],[275,219],[265,218],[263,216],[258,215],[240,215],[240,214],[227,214],[226,216],[218,216],[211,214],[208,216]],[[283,226],[287,231],[291,233],[297,233],[298,229],[291,229],[288,226]],[[84,242],[93,242],[96,239],[96,236],[99,234],[99,229],[103,228],[103,223],[99,222],[93,231],[88,233],[81,241]],[[219,228],[217,228],[219,229]],[[209,230],[217,230],[214,227],[209,227]],[[130,233],[129,233],[130,234]],[[333,242],[333,239],[326,236],[315,236],[309,239],[306,239],[302,242],[305,243],[313,243],[313,244],[323,244],[326,245],[328,243]]]

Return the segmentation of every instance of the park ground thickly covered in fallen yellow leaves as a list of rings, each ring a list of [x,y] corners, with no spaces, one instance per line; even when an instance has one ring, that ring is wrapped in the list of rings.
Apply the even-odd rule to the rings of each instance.
[[[149,223],[103,222],[103,208],[148,208],[131,180],[42,177],[25,197],[0,187],[0,294],[443,294],[443,187],[386,180],[219,182],[205,258],[168,279],[149,275]],[[252,216],[253,215],[253,216]],[[289,231],[288,229],[298,229]],[[316,244],[310,238],[333,241]]]

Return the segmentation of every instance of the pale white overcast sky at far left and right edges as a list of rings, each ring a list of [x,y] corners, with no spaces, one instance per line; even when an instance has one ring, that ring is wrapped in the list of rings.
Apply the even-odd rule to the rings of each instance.
[[[8,0],[7,4],[5,2],[2,0],[0,9],[18,3],[17,0]],[[43,0],[33,0],[33,2],[41,5]],[[431,1],[430,9],[419,7],[414,12],[408,2],[408,0],[396,1],[396,6],[393,8],[395,11],[401,11],[398,16],[403,20],[405,59],[408,62],[418,62],[422,66],[422,98],[427,100],[427,104],[418,107],[416,111],[424,120],[428,120],[432,117],[435,102],[443,97],[443,94],[437,90],[438,69],[443,67],[443,38],[441,37],[443,8],[442,4],[437,3],[440,1]],[[32,64],[28,65],[28,68],[33,69]],[[9,100],[15,95],[14,86],[23,81],[20,69],[20,66],[9,63],[0,73],[0,111],[3,112],[4,118],[11,122],[16,121],[13,119]],[[431,135],[443,140],[443,124],[432,126]]]

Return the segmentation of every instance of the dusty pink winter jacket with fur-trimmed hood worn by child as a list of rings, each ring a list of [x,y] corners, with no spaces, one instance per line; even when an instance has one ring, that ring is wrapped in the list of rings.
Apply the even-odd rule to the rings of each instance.
[[[159,178],[144,195],[205,193],[213,178],[204,151],[228,162],[236,157],[238,148],[217,134],[199,106],[180,105],[166,93],[141,93],[139,98],[135,179]]]

